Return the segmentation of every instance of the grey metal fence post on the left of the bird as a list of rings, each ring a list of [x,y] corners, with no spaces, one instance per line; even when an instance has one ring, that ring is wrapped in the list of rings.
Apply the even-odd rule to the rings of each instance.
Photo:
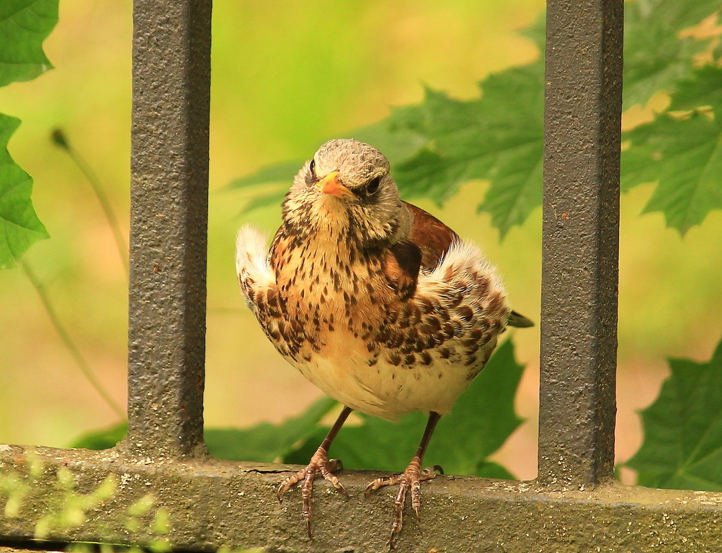
[[[126,449],[203,451],[210,0],[135,0]]]

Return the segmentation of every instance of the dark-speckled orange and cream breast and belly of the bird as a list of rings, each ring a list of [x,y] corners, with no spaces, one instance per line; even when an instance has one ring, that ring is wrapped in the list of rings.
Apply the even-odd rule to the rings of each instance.
[[[496,344],[508,315],[503,291],[469,275],[401,298],[382,256],[334,246],[277,244],[278,297],[268,298],[261,319],[266,334],[349,407],[387,419],[448,412]]]

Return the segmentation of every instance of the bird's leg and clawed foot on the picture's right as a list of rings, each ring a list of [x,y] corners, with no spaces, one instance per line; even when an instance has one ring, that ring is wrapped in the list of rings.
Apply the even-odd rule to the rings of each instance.
[[[404,503],[406,502],[406,491],[411,488],[411,505],[414,509],[414,513],[416,513],[416,518],[420,518],[419,508],[421,507],[421,482],[434,478],[437,471],[443,474],[443,470],[438,465],[430,466],[423,470],[421,469],[426,447],[429,445],[431,435],[434,433],[434,428],[436,428],[436,423],[439,422],[440,418],[441,415],[437,412],[432,411],[429,413],[429,420],[426,423],[426,429],[424,430],[424,435],[421,438],[421,443],[419,443],[419,448],[404,472],[388,478],[377,478],[373,480],[373,482],[369,482],[369,485],[366,487],[365,495],[373,492],[373,490],[378,490],[378,488],[382,486],[399,486],[399,493],[396,495],[396,501],[393,502],[393,526],[391,527],[391,537],[388,539],[388,547],[391,549],[393,549],[393,539],[396,537],[396,534],[399,534],[401,526],[404,524]]]

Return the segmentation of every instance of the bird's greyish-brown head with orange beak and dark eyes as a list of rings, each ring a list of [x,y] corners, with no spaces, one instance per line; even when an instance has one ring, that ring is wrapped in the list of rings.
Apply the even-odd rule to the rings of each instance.
[[[296,175],[283,203],[284,226],[318,239],[370,247],[403,232],[406,210],[386,156],[357,140],[331,140]]]

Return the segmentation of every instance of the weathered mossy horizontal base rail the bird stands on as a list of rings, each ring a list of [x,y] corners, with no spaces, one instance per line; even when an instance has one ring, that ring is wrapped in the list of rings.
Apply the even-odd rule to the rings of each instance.
[[[274,495],[290,469],[214,460],[130,461],[115,450],[1,446],[0,541],[31,537],[39,528],[45,539],[56,541],[160,540],[199,551],[388,550],[391,491],[368,499],[362,493],[375,473],[340,474],[349,501],[327,482],[317,483],[310,541],[298,492],[290,492],[282,505]],[[422,502],[422,523],[406,508],[399,552],[722,551],[720,493],[618,485],[548,491],[534,482],[438,477],[423,485]]]

